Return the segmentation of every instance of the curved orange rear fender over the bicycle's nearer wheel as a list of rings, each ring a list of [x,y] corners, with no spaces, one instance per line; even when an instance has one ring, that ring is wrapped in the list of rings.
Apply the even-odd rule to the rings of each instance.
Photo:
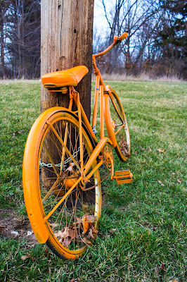
[[[25,152],[22,164],[22,185],[25,197],[25,205],[30,224],[39,243],[46,243],[49,237],[46,223],[44,222],[44,211],[39,201],[38,186],[38,148],[40,142],[40,134],[44,128],[46,121],[58,111],[69,112],[76,116],[72,111],[63,107],[53,107],[44,111],[34,122],[30,133],[27,137]]]

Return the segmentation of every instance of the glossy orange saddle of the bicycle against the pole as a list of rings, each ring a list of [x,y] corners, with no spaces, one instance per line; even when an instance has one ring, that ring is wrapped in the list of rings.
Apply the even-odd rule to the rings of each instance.
[[[63,86],[77,86],[80,80],[88,73],[86,66],[75,66],[65,71],[55,71],[41,76],[44,87],[57,88]]]

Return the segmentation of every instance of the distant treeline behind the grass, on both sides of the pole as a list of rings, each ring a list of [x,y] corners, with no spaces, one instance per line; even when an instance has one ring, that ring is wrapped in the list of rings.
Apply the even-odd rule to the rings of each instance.
[[[148,73],[187,78],[187,2],[183,0],[100,0],[106,35],[93,32],[93,53],[114,35],[124,42],[101,57],[105,73]],[[55,16],[55,15],[54,15]],[[0,78],[39,78],[40,1],[0,0]]]

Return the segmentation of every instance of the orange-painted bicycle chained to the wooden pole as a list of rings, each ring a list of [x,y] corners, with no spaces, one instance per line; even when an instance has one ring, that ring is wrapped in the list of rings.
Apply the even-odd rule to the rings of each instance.
[[[103,82],[96,58],[103,56],[124,38],[100,54],[92,56],[96,74],[92,127],[79,93],[74,87],[86,75],[86,66],[43,75],[49,92],[69,95],[69,108],[60,106],[44,111],[27,137],[23,157],[23,191],[27,214],[39,243],[46,243],[59,257],[75,259],[91,245],[98,233],[101,216],[101,179],[99,171],[117,183],[130,183],[129,170],[114,171],[112,148],[126,161],[130,154],[127,119],[120,99]],[[96,139],[96,119],[100,94],[100,137]],[[77,110],[72,111],[75,102]],[[104,123],[108,132],[105,137]],[[100,168],[100,169],[99,169]]]

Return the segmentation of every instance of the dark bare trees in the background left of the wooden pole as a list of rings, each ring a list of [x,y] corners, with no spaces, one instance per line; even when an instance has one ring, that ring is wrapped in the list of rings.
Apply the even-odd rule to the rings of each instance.
[[[40,1],[0,0],[0,77],[39,78]]]

